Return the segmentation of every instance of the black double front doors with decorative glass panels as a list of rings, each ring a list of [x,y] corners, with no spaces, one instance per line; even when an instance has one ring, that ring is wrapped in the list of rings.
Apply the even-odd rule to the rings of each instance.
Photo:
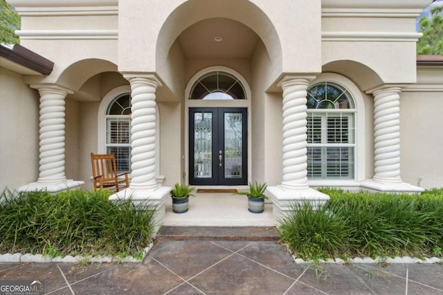
[[[247,184],[247,113],[246,108],[190,108],[190,184]]]

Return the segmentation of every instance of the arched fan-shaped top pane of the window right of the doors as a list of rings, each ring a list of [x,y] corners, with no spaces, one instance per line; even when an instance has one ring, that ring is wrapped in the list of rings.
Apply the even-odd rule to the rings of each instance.
[[[345,88],[331,82],[322,82],[308,89],[307,108],[354,108],[354,102]]]

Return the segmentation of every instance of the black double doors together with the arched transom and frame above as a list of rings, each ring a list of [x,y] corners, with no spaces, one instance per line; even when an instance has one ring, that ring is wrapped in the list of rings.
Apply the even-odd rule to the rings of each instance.
[[[215,66],[199,71],[186,88],[188,182],[248,183],[251,90],[237,71]]]

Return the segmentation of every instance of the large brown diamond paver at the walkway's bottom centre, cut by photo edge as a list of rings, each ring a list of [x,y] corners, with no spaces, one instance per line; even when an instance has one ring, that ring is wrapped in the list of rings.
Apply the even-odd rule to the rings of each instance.
[[[293,282],[236,254],[189,280],[204,294],[283,294]]]

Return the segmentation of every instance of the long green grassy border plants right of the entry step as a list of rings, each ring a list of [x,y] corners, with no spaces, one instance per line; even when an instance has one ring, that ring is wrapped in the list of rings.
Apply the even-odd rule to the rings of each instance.
[[[282,240],[300,257],[442,256],[443,189],[413,195],[321,191],[330,196],[324,206],[311,212],[296,207],[280,226]],[[332,225],[324,223],[327,216]]]

